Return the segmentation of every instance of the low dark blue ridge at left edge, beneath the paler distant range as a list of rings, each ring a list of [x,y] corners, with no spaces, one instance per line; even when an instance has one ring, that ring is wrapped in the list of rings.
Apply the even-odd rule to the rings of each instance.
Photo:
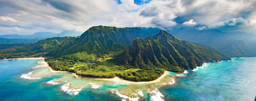
[[[0,44],[31,44],[42,39],[7,39],[0,38]]]

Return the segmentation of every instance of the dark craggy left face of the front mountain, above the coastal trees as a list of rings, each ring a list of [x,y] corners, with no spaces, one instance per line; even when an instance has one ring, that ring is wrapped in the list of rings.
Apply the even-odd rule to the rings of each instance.
[[[115,60],[121,65],[132,66],[129,68],[146,70],[162,68],[174,72],[183,70],[183,68],[178,67],[168,49],[162,46],[158,40],[150,41],[136,38],[132,45],[119,54]]]

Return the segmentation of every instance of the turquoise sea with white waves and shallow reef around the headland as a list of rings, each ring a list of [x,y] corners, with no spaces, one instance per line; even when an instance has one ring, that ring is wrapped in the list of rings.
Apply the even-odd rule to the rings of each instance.
[[[254,101],[256,95],[256,58],[205,64],[189,75],[169,72],[160,82],[141,85],[74,78],[38,65],[36,59],[1,60],[0,100]]]

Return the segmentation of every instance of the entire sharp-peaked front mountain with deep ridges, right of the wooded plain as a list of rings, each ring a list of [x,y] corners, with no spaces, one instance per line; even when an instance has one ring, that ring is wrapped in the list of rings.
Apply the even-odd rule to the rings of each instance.
[[[120,64],[140,69],[163,66],[168,68],[166,70],[180,71],[182,69],[175,65],[184,69],[194,69],[196,66],[202,66],[204,62],[219,62],[230,58],[183,41],[166,31],[160,31],[145,40],[135,39],[127,50],[117,56],[116,60]]]

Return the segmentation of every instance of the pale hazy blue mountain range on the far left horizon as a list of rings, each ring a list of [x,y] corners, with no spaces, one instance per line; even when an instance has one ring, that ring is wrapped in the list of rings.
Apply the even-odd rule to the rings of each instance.
[[[59,34],[52,33],[52,32],[36,32],[32,35],[17,35],[17,34],[10,34],[10,35],[0,35],[0,38],[7,38],[7,39],[45,39],[45,38],[53,38],[53,37],[76,37],[80,36],[82,32],[75,31],[75,30],[67,30],[63,31]]]

